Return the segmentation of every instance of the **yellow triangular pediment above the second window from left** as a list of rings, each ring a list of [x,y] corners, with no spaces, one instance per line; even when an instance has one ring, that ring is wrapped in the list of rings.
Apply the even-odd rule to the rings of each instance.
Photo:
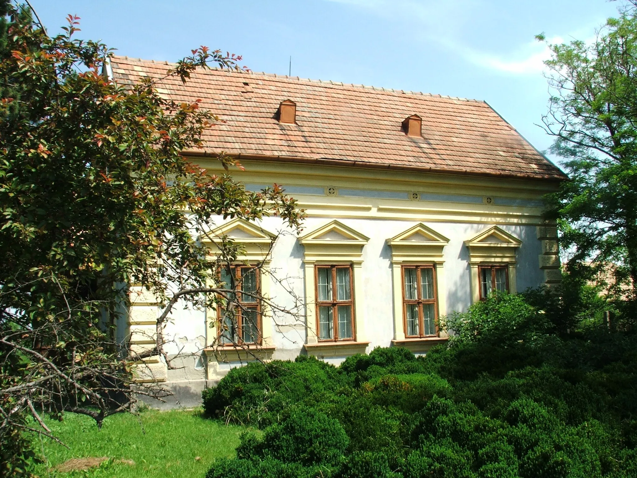
[[[368,236],[336,220],[299,238],[306,261],[359,260],[368,240]]]

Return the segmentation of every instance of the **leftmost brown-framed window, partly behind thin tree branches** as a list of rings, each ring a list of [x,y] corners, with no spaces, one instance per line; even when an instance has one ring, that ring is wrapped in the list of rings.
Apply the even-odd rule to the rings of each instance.
[[[217,308],[219,341],[222,344],[259,344],[261,342],[261,304],[259,270],[252,266],[230,266],[219,271],[222,287],[240,291],[228,294],[234,300],[234,313],[222,304]]]

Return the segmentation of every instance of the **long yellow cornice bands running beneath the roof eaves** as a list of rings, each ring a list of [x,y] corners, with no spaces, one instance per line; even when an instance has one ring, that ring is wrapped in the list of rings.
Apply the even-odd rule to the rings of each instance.
[[[211,173],[222,168],[213,158],[193,157],[193,161]],[[324,191],[328,185],[337,189],[365,189],[379,192],[401,192],[404,199],[368,196],[327,196],[295,194],[299,208],[310,217],[336,219],[366,218],[400,219],[427,222],[467,222],[481,224],[543,224],[542,208],[535,205],[502,205],[496,203],[461,203],[452,201],[410,201],[409,192],[421,194],[459,194],[507,199],[541,201],[557,184],[542,180],[515,178],[462,177],[427,172],[377,171],[364,168],[311,164],[277,163],[276,161],[243,162],[245,171],[232,171],[233,177],[245,184],[279,184],[285,188],[315,187]]]

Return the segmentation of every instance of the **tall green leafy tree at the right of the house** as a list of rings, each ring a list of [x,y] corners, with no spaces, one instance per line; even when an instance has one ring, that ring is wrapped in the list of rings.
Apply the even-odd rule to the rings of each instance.
[[[549,45],[552,98],[545,130],[571,178],[553,196],[571,264],[613,263],[637,284],[637,1],[593,41]],[[543,35],[538,39],[544,41]]]

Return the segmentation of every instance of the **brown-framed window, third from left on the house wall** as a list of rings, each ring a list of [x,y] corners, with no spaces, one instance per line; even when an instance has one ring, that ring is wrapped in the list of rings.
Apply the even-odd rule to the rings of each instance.
[[[434,266],[403,266],[403,306],[406,337],[438,334]]]

